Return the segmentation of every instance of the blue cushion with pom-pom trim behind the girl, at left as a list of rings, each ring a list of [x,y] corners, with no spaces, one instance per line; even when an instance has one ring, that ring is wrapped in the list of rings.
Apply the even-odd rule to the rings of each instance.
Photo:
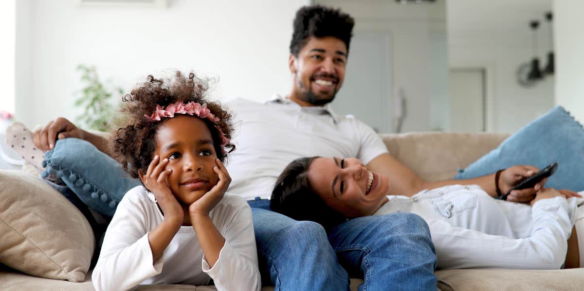
[[[55,174],[85,205],[109,217],[124,194],[141,185],[116,160],[83,139],[59,139],[45,153],[43,167],[42,177]]]

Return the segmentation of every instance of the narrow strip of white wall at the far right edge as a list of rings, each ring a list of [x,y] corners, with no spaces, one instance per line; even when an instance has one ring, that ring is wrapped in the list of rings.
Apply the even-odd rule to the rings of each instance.
[[[584,2],[555,0],[555,50],[557,84],[555,103],[584,121]]]

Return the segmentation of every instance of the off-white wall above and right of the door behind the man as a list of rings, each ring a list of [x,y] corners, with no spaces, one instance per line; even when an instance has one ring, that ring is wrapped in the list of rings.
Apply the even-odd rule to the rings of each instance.
[[[389,31],[393,43],[394,88],[397,91],[402,87],[407,97],[402,131],[440,127],[436,123],[442,122],[444,113],[435,105],[446,99],[448,86],[444,1],[420,5],[387,0],[315,2],[349,13],[355,19],[354,30]]]

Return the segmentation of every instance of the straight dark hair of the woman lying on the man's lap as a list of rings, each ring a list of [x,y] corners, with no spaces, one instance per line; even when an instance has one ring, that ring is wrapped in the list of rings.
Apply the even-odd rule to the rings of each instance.
[[[326,230],[332,229],[347,218],[331,209],[312,190],[308,181],[308,167],[317,157],[300,157],[286,166],[276,180],[270,207],[296,220],[320,223]]]

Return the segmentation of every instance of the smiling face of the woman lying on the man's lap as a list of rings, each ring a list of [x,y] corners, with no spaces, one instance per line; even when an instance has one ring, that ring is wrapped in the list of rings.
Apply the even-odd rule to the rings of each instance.
[[[318,157],[308,167],[308,182],[333,210],[353,218],[372,215],[387,200],[388,178],[359,159]]]

